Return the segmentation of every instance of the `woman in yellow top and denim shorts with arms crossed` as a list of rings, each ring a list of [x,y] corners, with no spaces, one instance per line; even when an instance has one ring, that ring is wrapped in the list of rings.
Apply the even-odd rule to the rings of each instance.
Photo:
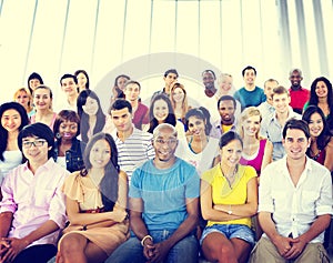
[[[200,244],[209,261],[248,262],[258,209],[258,180],[252,166],[239,164],[243,142],[233,131],[220,139],[221,161],[202,174],[201,211],[208,220]]]

